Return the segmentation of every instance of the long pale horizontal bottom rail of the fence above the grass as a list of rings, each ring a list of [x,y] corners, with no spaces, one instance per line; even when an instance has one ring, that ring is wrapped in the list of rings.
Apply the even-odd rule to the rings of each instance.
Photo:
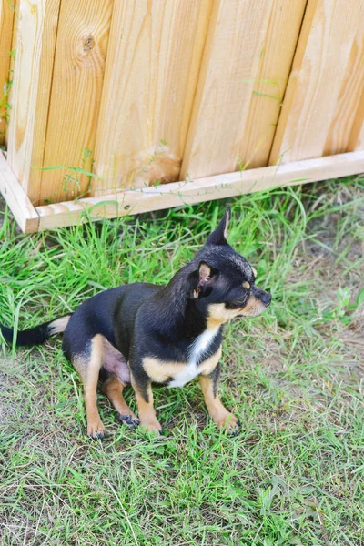
[[[359,151],[199,178],[194,181],[175,182],[165,186],[126,190],[105,197],[87,197],[36,207],[36,212],[40,217],[40,230],[54,229],[78,224],[86,219],[126,216],[212,199],[236,197],[272,187],[295,186],[330,177],[349,176],[361,172],[363,167],[364,151]]]

